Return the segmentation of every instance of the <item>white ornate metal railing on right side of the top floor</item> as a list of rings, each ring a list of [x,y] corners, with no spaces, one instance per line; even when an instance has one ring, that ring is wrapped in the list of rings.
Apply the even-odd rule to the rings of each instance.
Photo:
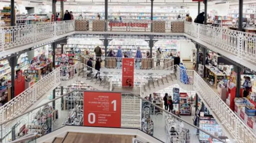
[[[256,62],[256,34],[184,22],[184,33],[242,59]]]

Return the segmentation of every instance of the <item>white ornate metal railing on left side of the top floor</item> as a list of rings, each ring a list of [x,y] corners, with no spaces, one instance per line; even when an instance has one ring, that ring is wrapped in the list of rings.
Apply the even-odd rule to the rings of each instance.
[[[72,31],[75,31],[74,20],[0,28],[0,51]]]

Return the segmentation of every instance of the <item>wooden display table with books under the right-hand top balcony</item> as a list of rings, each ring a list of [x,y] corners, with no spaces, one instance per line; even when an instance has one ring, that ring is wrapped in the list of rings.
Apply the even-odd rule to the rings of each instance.
[[[205,65],[205,68],[206,68],[207,73],[213,74],[213,76],[214,76],[214,84],[213,85],[214,85],[215,88],[217,88],[218,80],[229,78],[229,75],[225,75],[225,74],[223,74],[223,72],[217,72],[216,70],[212,69],[212,68],[215,68],[215,67]]]

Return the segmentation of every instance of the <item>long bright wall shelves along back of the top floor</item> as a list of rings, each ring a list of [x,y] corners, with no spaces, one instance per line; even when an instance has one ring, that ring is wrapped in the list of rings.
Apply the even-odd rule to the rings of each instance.
[[[151,16],[150,6],[111,6],[109,5],[108,19],[121,19],[122,20],[150,20]],[[64,5],[64,9],[68,9],[73,12],[74,18],[78,18],[80,15],[84,19],[96,19],[97,15],[100,15],[100,19],[104,19],[104,6],[88,6],[88,5]],[[60,9],[57,8],[57,12]],[[181,19],[185,19],[186,14],[189,13],[187,7],[160,7],[154,6],[153,20],[176,20],[180,15]]]

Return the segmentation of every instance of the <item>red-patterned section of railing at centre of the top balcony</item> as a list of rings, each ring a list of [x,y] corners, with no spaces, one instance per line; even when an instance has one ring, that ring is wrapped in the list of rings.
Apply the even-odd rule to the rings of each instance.
[[[109,22],[108,26],[110,26],[110,30],[112,30],[112,27],[126,27],[126,31],[130,31],[130,29],[128,30],[128,28],[130,27],[137,27],[137,28],[148,28],[148,24],[147,23],[130,23],[130,22]]]

